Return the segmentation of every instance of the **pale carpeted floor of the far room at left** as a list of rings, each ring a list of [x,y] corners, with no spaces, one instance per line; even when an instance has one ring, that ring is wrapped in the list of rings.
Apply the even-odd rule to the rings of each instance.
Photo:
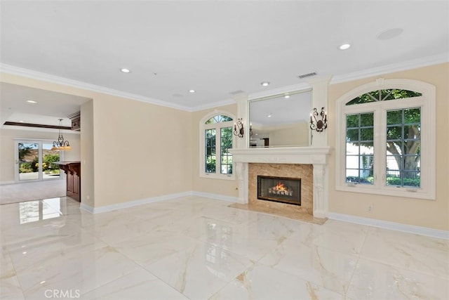
[[[65,196],[65,180],[0,185],[0,204]]]

